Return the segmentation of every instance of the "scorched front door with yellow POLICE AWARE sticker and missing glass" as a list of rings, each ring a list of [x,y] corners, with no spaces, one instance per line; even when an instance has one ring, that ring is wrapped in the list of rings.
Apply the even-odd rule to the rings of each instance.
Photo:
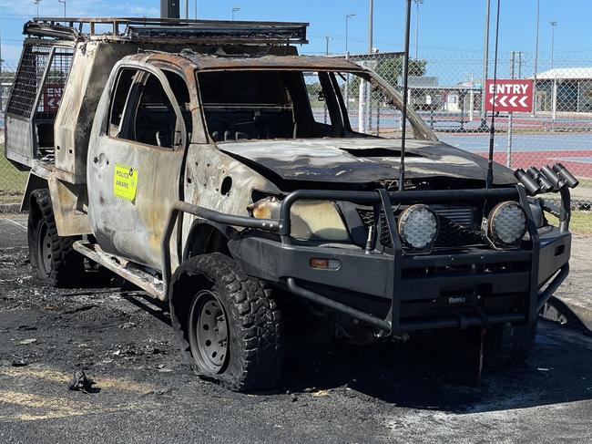
[[[88,157],[89,218],[107,253],[160,269],[168,211],[182,199],[185,124],[154,67],[122,67],[111,85],[105,134]]]

